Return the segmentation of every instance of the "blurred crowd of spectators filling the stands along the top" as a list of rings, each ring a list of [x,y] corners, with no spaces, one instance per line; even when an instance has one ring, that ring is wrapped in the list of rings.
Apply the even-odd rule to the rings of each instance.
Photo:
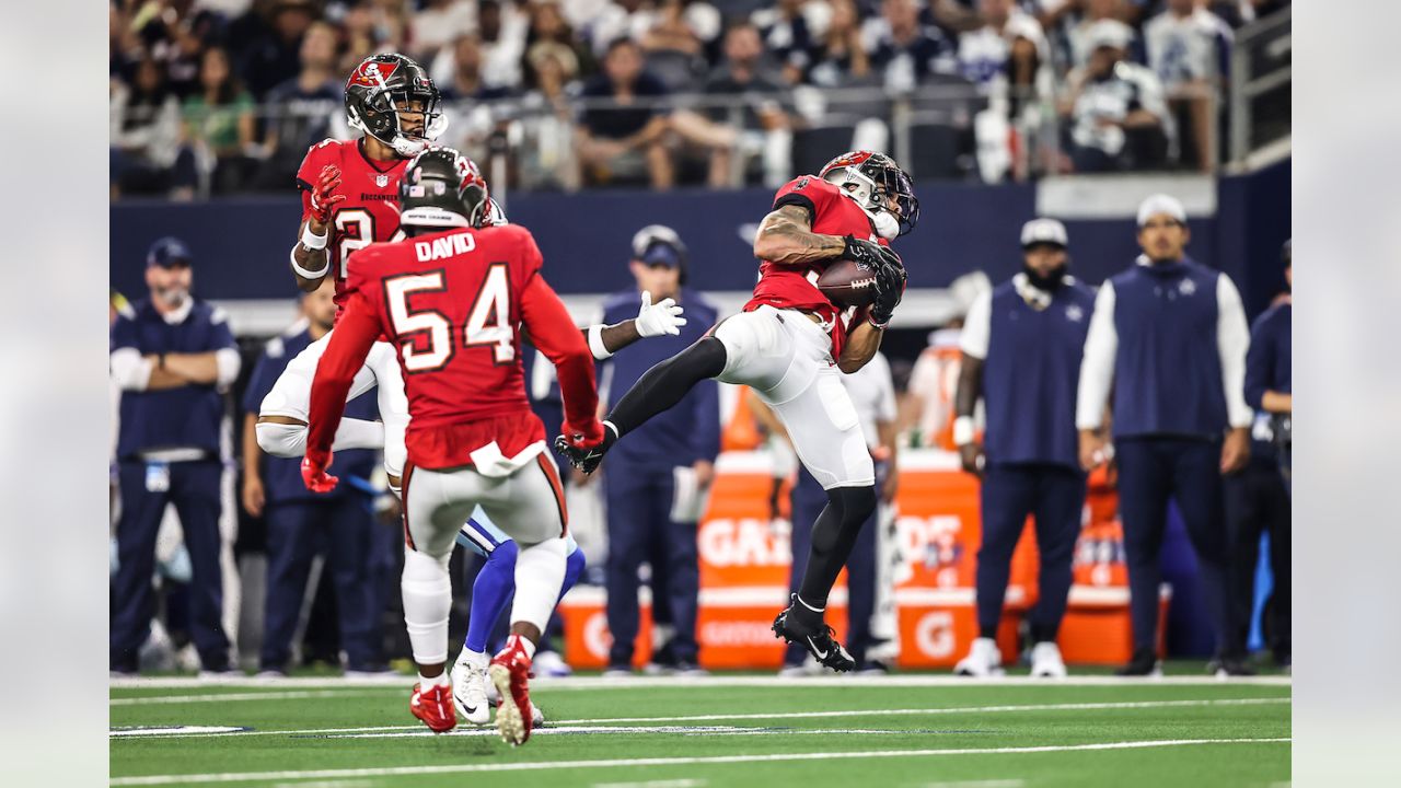
[[[775,186],[892,140],[918,178],[1212,170],[1231,29],[1286,4],[111,0],[111,186],[290,193],[375,52],[518,188]]]

